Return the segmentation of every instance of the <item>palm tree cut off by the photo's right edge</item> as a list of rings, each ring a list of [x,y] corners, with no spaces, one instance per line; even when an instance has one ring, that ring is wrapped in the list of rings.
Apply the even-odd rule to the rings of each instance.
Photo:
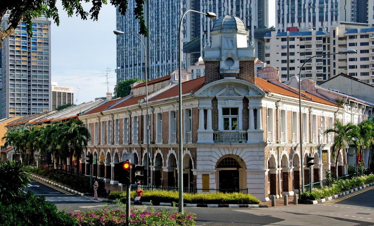
[[[373,143],[373,123],[369,120],[364,120],[357,124],[359,132],[359,151],[361,154],[361,159],[364,159],[364,150],[371,147]],[[364,166],[365,166],[365,161]]]

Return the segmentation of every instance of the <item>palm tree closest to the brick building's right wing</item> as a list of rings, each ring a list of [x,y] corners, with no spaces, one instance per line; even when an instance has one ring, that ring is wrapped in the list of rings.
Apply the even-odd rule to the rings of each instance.
[[[336,121],[334,128],[325,130],[324,135],[327,133],[334,133],[334,142],[331,146],[332,157],[335,158],[335,175],[338,177],[338,157],[339,153],[343,157],[344,166],[347,167],[347,159],[344,153],[346,144],[353,144],[358,147],[359,132],[357,126],[353,123],[347,123],[346,125]],[[342,152],[340,152],[343,150]]]

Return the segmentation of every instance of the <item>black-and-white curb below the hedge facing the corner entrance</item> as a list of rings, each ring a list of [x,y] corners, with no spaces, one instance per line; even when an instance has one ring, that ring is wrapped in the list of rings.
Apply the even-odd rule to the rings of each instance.
[[[113,203],[112,199],[102,199],[101,202]],[[131,201],[131,204],[135,205],[151,205],[150,202],[135,202]],[[173,204],[170,202],[152,202],[152,205],[156,206],[167,206],[172,207]],[[267,208],[267,204],[190,204],[185,203],[184,207],[212,207],[212,208]]]

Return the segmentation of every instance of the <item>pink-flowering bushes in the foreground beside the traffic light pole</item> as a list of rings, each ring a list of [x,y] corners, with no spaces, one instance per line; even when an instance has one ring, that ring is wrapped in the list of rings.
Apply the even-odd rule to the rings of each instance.
[[[117,206],[114,209],[106,209],[93,212],[70,212],[73,219],[78,222],[80,226],[89,225],[105,225],[117,226],[126,225],[126,205]],[[131,208],[130,211],[130,225],[170,225],[170,226],[190,226],[195,225],[195,214],[179,213],[173,208],[169,210],[157,210],[153,207],[150,210],[143,210],[145,208]]]

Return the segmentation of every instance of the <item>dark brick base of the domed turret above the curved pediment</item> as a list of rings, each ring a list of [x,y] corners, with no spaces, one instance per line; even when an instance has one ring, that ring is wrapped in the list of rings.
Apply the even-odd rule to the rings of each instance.
[[[244,81],[255,83],[253,60],[239,61],[239,73],[220,73],[220,61],[205,61],[205,84],[223,79],[235,77]]]

